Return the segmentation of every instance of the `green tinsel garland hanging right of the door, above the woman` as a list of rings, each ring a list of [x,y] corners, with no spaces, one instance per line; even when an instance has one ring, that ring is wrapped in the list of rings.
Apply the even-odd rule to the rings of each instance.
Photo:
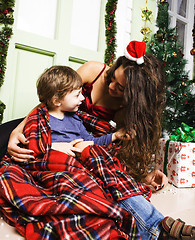
[[[105,14],[105,36],[106,36],[106,45],[104,62],[111,66],[116,58],[116,21],[115,21],[115,12],[117,8],[118,0],[108,0],[106,4],[106,14]]]

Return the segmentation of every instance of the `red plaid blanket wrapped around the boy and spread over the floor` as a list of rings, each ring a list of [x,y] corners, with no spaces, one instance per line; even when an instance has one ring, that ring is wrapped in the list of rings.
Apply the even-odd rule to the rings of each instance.
[[[112,130],[100,122],[95,126]],[[44,106],[30,114],[24,133],[35,160],[13,163],[5,156],[0,165],[0,211],[9,224],[27,240],[140,239],[134,218],[117,201],[148,198],[150,189],[125,174],[109,154],[114,147],[94,145],[80,158],[52,150]]]

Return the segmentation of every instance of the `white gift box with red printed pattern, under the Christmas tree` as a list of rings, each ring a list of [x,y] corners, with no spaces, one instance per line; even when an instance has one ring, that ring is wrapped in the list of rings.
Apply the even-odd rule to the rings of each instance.
[[[195,187],[195,143],[170,141],[166,149],[166,142],[160,139],[156,168],[176,187]]]

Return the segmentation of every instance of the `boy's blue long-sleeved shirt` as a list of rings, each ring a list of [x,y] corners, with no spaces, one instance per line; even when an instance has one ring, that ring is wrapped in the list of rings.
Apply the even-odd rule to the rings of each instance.
[[[49,120],[52,142],[71,142],[79,138],[84,141],[94,141],[94,144],[100,146],[112,142],[112,133],[101,137],[94,137],[88,133],[83,121],[75,113],[66,112],[63,119],[58,119],[49,114]]]

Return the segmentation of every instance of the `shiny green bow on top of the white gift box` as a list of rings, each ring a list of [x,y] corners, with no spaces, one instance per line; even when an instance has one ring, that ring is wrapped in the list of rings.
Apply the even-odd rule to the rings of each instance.
[[[169,138],[171,141],[195,142],[195,129],[182,122],[181,127],[177,128],[174,131],[174,135],[171,135]]]

